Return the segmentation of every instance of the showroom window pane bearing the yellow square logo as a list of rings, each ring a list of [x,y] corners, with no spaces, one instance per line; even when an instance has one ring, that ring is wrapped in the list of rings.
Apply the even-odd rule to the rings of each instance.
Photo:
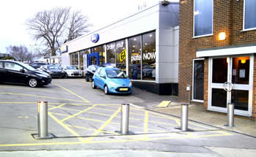
[[[116,42],[116,67],[127,73],[125,40]]]

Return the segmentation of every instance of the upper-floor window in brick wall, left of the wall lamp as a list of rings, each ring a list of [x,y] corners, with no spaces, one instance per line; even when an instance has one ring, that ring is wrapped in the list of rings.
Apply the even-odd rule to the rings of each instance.
[[[194,1],[194,37],[213,34],[213,0]]]

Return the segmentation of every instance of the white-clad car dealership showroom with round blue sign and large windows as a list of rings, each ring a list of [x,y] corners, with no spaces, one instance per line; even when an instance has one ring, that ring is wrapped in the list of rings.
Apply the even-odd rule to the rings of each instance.
[[[135,87],[177,96],[178,19],[178,3],[159,2],[64,43],[61,62],[80,69],[112,64],[126,72]]]

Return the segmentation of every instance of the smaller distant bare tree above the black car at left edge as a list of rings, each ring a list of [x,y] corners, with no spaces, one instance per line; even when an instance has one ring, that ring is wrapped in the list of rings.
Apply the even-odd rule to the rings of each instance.
[[[26,46],[12,46],[10,45],[7,48],[7,53],[9,53],[17,61],[32,61],[34,58],[33,54],[29,52]]]

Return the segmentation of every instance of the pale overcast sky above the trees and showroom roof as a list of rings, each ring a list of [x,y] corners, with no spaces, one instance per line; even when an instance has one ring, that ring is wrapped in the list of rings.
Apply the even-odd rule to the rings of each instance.
[[[122,18],[138,12],[138,6],[151,7],[159,0],[8,0],[0,5],[0,53],[6,53],[10,45],[25,45],[29,49],[35,44],[25,22],[37,12],[54,7],[72,7],[81,10],[93,24],[90,31],[108,26]],[[178,0],[170,0],[178,1]]]

